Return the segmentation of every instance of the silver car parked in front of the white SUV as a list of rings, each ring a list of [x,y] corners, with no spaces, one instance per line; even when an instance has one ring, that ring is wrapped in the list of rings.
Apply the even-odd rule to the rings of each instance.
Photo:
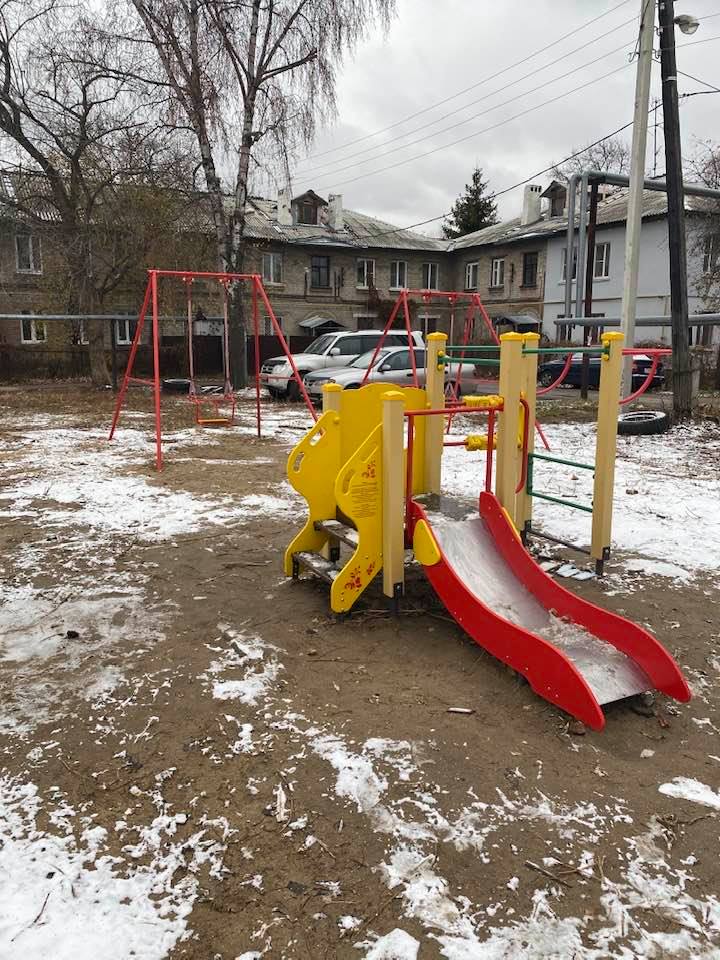
[[[357,357],[347,367],[335,369],[334,367],[325,367],[322,370],[316,370],[314,373],[308,373],[304,378],[305,389],[313,401],[319,401],[322,398],[322,388],[326,383],[337,383],[345,390],[357,390],[362,386],[363,378],[367,373],[368,367],[372,363],[374,350],[368,350],[367,353]],[[417,370],[418,386],[425,386],[425,348],[415,348],[415,367]],[[447,364],[445,367],[445,379],[450,381],[457,375],[458,364]],[[463,376],[472,376],[472,366],[463,365]],[[413,385],[413,370],[410,360],[410,350],[407,344],[404,347],[385,347],[380,350],[376,359],[375,366],[367,375],[366,383],[391,383],[399,387],[410,387]]]

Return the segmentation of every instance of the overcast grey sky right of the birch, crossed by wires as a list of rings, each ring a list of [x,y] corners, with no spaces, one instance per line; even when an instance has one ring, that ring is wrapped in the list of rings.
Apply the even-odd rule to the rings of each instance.
[[[294,192],[308,187],[324,197],[339,192],[346,207],[406,226],[448,210],[476,163],[490,188],[502,190],[622,126],[632,119],[635,63],[629,61],[640,4],[618,3],[398,0],[389,33],[374,33],[345,64],[338,84],[338,120],[318,133],[313,156],[297,164]],[[607,11],[612,12],[532,56]],[[678,69],[720,87],[719,0],[678,0],[676,13],[708,17],[693,37],[677,31]],[[500,71],[505,72],[489,79]],[[707,89],[679,79],[681,93]],[[477,86],[455,96],[471,85]],[[653,67],[652,95],[660,97],[659,64]],[[450,97],[442,106],[406,119]],[[546,104],[556,97],[557,102]],[[698,138],[720,141],[720,93],[681,101],[681,122],[686,154]],[[391,124],[396,125],[392,130],[368,137]],[[623,134],[628,141],[631,132]],[[662,130],[658,136],[657,169],[662,173]],[[462,143],[448,146],[461,138]],[[651,126],[649,165],[652,150]],[[546,174],[538,182],[548,179]],[[522,188],[499,198],[501,217],[516,216],[521,203]],[[438,227],[423,229],[437,233]]]

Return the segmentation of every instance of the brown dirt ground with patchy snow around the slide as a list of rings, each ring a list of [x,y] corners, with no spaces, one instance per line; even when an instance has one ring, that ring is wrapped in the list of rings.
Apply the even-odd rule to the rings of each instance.
[[[715,576],[567,582],[694,691],[579,735],[415,567],[397,619],[285,580],[297,409],[169,400],[158,476],[111,404],[0,392],[0,956],[720,956]]]

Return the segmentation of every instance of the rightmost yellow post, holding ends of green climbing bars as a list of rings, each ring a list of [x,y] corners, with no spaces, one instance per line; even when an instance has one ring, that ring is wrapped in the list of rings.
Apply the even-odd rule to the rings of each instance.
[[[606,353],[603,354],[600,363],[593,524],[590,545],[590,553],[595,559],[595,567],[598,573],[602,573],[603,564],[610,556],[623,335],[621,333],[605,333],[602,337],[602,344]]]

